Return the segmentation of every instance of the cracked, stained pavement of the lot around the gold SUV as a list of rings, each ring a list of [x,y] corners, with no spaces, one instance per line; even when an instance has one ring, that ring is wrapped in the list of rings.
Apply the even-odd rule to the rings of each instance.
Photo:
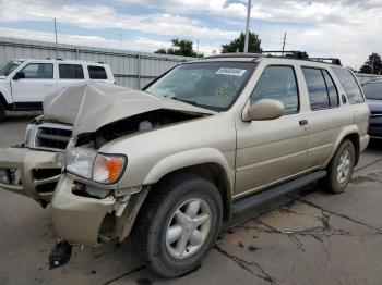
[[[32,117],[0,123],[0,147],[22,141]],[[0,284],[381,284],[382,147],[362,154],[346,193],[313,187],[259,218],[237,216],[252,219],[224,234],[199,270],[171,281],[131,257],[129,241],[76,248],[68,265],[49,270],[50,209],[1,191]]]

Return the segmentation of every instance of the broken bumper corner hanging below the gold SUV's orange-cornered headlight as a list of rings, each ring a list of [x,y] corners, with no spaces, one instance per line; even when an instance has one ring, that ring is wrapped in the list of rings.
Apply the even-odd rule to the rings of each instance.
[[[84,179],[69,173],[60,178],[51,200],[52,222],[59,237],[81,245],[122,241],[132,228],[148,188],[141,187],[135,193],[131,189],[130,194],[129,189],[103,189],[99,185],[97,190],[110,195],[98,198],[91,195],[86,187],[94,189],[95,186],[92,183],[86,185]]]

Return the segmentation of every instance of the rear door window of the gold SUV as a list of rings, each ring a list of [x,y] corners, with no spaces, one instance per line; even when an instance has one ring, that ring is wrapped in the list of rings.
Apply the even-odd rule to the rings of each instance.
[[[321,70],[302,67],[302,73],[307,82],[310,108],[312,110],[330,108],[326,84]]]

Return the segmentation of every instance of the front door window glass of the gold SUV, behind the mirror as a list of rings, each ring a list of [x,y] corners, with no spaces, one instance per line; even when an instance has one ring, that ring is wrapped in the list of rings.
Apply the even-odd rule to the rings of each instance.
[[[297,80],[293,66],[267,66],[251,95],[251,104],[261,99],[275,99],[284,103],[284,114],[298,112]]]

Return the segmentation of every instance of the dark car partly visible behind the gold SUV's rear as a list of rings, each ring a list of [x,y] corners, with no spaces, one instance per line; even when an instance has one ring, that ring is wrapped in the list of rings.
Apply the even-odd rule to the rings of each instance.
[[[382,138],[382,79],[371,80],[363,85],[363,92],[370,108],[371,117],[369,135]]]

